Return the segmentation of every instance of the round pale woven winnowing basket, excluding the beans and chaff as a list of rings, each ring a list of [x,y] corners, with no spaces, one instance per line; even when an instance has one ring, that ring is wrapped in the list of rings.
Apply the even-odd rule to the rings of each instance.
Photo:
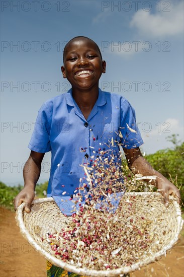
[[[129,192],[124,194],[123,200],[129,201],[132,196],[135,196],[133,204],[136,206],[136,215],[146,214],[147,218],[156,219],[159,237],[156,239],[157,242],[153,240],[153,244],[159,241],[161,248],[157,252],[151,251],[149,254],[142,256],[141,260],[139,259],[138,262],[130,266],[123,266],[113,270],[92,270],[70,265],[55,257],[49,244],[42,242],[42,237],[45,237],[46,233],[59,232],[63,227],[69,225],[71,221],[71,217],[65,217],[60,212],[52,197],[34,200],[30,214],[24,212],[25,203],[22,203],[17,210],[16,220],[22,235],[54,265],[85,276],[121,276],[123,273],[134,271],[164,255],[176,243],[183,224],[180,207],[173,197],[170,196],[170,203],[165,208],[160,193]],[[121,203],[122,201],[120,205]],[[154,247],[152,249],[154,250]]]

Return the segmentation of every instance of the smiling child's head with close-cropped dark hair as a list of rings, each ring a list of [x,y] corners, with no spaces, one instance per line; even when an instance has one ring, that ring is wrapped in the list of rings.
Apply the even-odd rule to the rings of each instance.
[[[106,72],[106,62],[102,60],[97,45],[81,37],[66,46],[61,71],[72,89],[88,90],[99,87],[99,79]]]

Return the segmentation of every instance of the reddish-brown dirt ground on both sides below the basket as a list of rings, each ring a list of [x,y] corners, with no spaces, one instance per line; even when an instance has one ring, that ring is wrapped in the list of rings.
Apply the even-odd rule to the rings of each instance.
[[[183,277],[183,237],[159,261],[131,273],[131,277]],[[22,237],[15,213],[1,208],[1,277],[46,277],[46,261]]]

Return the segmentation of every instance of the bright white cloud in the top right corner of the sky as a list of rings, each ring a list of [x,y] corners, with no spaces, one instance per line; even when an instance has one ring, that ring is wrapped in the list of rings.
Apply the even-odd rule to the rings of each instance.
[[[131,22],[138,32],[151,38],[163,38],[182,34],[183,32],[183,2],[170,2],[170,11],[160,11],[155,14],[138,10]]]

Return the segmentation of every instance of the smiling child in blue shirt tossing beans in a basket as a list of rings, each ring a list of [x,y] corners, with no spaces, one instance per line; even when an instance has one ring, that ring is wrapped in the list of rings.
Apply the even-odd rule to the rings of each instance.
[[[41,163],[46,152],[51,151],[51,172],[47,195],[52,196],[62,212],[71,215],[70,202],[62,205],[61,198],[72,197],[84,172],[81,164],[90,164],[93,153],[107,150],[109,141],[120,140],[129,168],[134,174],[156,175],[156,186],[168,203],[168,195],[178,201],[178,189],[143,158],[139,146],[143,144],[137,128],[135,111],[120,95],[102,92],[99,79],[106,72],[98,45],[83,36],[71,39],[65,46],[61,67],[71,89],[45,102],[39,110],[29,149],[30,157],[24,168],[25,186],[14,200],[15,209],[26,202],[25,211],[35,196],[35,186],[40,176]],[[116,162],[121,164],[119,147],[114,146]],[[96,155],[97,155],[96,154]],[[26,170],[29,168],[30,170]],[[67,203],[67,204],[66,204]],[[48,276],[78,276],[48,263]]]

